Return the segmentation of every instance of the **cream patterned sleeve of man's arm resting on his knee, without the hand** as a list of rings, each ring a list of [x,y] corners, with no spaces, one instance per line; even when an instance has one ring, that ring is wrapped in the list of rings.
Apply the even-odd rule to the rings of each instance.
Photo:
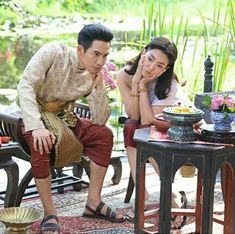
[[[55,43],[49,43],[40,48],[27,64],[22,79],[17,87],[19,106],[26,131],[45,128],[36,100],[36,95],[42,87],[46,72],[53,64],[57,54]]]

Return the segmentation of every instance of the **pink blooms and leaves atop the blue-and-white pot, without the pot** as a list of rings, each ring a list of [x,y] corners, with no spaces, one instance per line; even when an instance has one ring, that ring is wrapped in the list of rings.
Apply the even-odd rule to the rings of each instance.
[[[209,107],[212,111],[220,111],[225,114],[235,113],[235,97],[222,94],[214,96],[205,95],[203,104]]]

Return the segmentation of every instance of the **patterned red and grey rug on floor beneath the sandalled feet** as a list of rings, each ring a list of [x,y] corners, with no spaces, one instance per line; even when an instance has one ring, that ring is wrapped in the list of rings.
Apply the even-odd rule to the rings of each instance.
[[[110,191],[111,189],[111,191]],[[123,202],[123,195],[125,189],[112,186],[107,190],[109,192],[102,195],[102,200],[109,204],[113,209],[116,209],[119,214],[127,214],[128,210],[132,209],[133,203],[125,204]],[[77,193],[69,191],[65,195],[55,194],[53,196],[54,204],[57,207],[59,214],[59,221],[61,225],[61,234],[128,234],[134,233],[134,223],[125,221],[123,223],[111,223],[101,219],[91,219],[82,217],[85,207],[85,200],[87,197],[87,189],[83,189]],[[155,196],[154,196],[155,197]],[[32,201],[25,201],[22,206],[41,209],[41,203],[38,199]],[[154,205],[153,205],[154,204]],[[192,208],[192,206],[190,206]],[[146,204],[147,210],[157,209],[158,201],[150,199]],[[217,215],[223,215],[223,212],[217,212]],[[31,233],[39,234],[40,222],[32,225]],[[215,225],[214,225],[215,226]],[[215,228],[215,234],[222,233],[221,225]],[[158,230],[158,217],[151,218],[145,222],[146,230],[150,232],[157,232]],[[187,218],[186,225],[181,230],[171,230],[171,234],[193,233],[195,231],[195,222],[193,217]]]

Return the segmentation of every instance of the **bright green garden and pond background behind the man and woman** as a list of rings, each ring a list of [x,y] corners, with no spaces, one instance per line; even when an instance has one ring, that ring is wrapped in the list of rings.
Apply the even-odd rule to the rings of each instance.
[[[178,47],[175,72],[193,100],[203,92],[204,61],[214,62],[213,91],[235,90],[234,0],[0,0],[0,104],[8,105],[30,57],[44,43],[76,46],[84,24],[101,22],[115,35],[109,60],[118,68],[151,37]],[[115,74],[114,74],[115,78]],[[110,124],[122,114],[117,90],[109,92]],[[119,138],[117,130],[116,139]]]

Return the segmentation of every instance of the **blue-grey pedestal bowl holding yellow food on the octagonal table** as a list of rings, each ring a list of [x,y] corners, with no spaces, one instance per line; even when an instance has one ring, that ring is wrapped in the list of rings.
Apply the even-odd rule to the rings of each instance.
[[[174,107],[163,109],[163,117],[171,123],[167,133],[169,138],[174,141],[194,141],[197,134],[194,124],[202,120],[204,112],[200,109],[190,108],[190,112],[176,113]]]

